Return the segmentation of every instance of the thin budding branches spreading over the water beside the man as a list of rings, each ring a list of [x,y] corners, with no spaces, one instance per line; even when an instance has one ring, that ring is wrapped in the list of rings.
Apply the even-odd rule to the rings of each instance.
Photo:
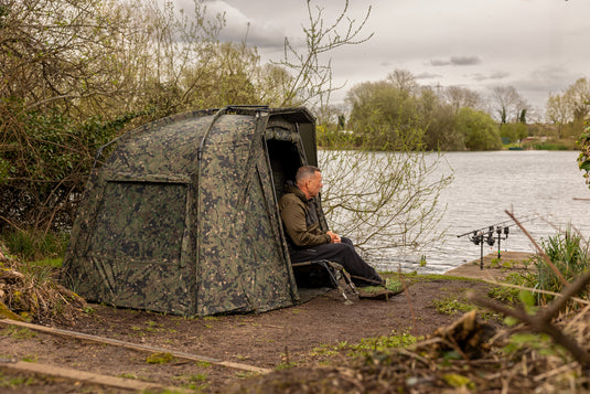
[[[436,230],[446,209],[439,195],[452,177],[438,174],[442,156],[414,149],[420,135],[420,130],[406,134],[406,146],[398,151],[320,152],[328,222],[354,239],[368,258],[384,249],[418,253],[443,235]]]

